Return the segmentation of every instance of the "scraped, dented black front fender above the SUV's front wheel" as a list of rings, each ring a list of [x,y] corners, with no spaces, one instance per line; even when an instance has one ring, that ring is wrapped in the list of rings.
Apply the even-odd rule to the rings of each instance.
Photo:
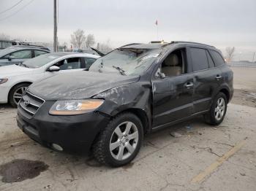
[[[116,114],[124,111],[135,111],[135,114],[137,114],[140,120],[143,122],[146,132],[151,130],[150,83],[145,82],[145,84],[131,83],[121,85],[99,93],[93,98],[105,99],[104,105],[99,108],[98,112],[107,114],[110,117],[114,117]]]

